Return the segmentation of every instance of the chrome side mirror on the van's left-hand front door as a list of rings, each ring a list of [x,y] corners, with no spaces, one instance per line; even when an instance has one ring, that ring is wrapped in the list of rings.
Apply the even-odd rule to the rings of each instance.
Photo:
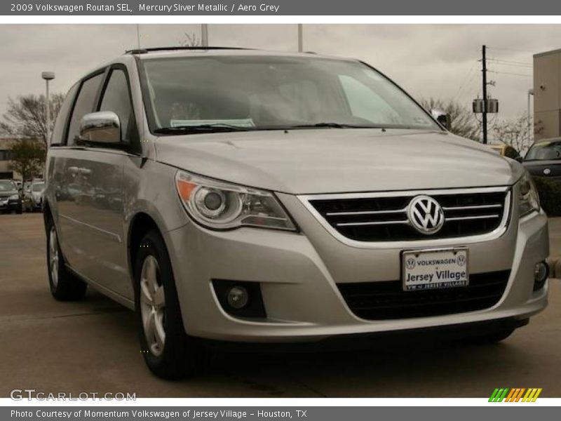
[[[86,114],[80,121],[80,138],[83,143],[100,145],[121,144],[121,121],[112,111]]]

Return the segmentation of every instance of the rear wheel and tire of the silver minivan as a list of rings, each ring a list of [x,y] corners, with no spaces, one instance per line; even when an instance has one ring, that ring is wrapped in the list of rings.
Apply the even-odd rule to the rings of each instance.
[[[59,301],[80,300],[86,294],[88,285],[67,269],[52,218],[48,218],[46,228],[47,273],[50,293]]]

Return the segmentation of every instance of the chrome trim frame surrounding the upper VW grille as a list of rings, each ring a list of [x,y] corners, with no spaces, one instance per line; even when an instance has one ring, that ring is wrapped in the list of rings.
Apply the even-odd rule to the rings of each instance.
[[[377,197],[399,197],[399,196],[417,196],[419,194],[427,195],[442,195],[442,194],[473,194],[473,193],[499,193],[504,192],[504,208],[503,215],[499,227],[496,227],[492,232],[486,234],[478,234],[473,236],[452,237],[447,239],[435,239],[427,236],[427,239],[422,240],[406,240],[406,241],[357,241],[349,239],[348,237],[339,234],[337,229],[332,227],[329,222],[313,207],[310,203],[312,200],[322,199],[364,199],[364,198],[377,198]],[[440,247],[440,246],[454,246],[459,242],[463,244],[476,243],[479,241],[489,241],[506,232],[508,218],[511,215],[512,206],[512,192],[510,186],[499,187],[471,187],[460,189],[428,189],[428,190],[410,190],[410,191],[393,191],[393,192],[363,192],[363,193],[329,193],[329,194],[301,194],[297,196],[298,200],[304,205],[306,209],[318,220],[320,225],[335,237],[338,241],[346,244],[347,246],[355,248],[404,248],[404,247]]]

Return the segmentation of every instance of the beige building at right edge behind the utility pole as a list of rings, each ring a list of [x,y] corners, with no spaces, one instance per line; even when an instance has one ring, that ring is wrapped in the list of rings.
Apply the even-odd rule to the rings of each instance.
[[[561,49],[534,55],[534,139],[561,137]]]

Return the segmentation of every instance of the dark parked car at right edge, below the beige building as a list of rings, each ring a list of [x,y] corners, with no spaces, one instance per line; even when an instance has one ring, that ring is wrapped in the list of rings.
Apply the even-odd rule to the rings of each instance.
[[[561,138],[534,143],[528,150],[523,164],[533,177],[561,182]]]

